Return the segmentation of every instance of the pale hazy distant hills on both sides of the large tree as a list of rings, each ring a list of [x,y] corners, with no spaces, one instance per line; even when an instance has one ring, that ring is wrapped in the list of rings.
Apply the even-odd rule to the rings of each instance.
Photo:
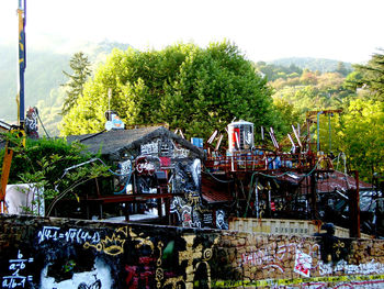
[[[27,49],[27,67],[25,70],[25,108],[37,107],[43,119],[44,125],[50,135],[58,134],[57,124],[60,122],[60,107],[65,97],[65,90],[60,87],[68,79],[63,70],[71,73],[69,59],[76,52],[83,52],[92,67],[104,62],[113,48],[127,49],[128,44],[112,43],[104,41],[102,43],[83,43],[78,46],[67,48],[56,43],[42,49]],[[56,47],[56,49],[55,49]],[[60,49],[58,49],[59,47]],[[63,52],[64,51],[64,52]],[[15,122],[18,110],[15,96],[18,92],[18,67],[16,49],[14,47],[0,45],[0,97],[3,105],[0,105],[0,119],[7,122]],[[338,60],[320,58],[281,58],[272,62],[272,66],[259,66],[259,70],[273,81],[281,78],[302,75],[303,69],[335,71],[338,67]],[[351,69],[351,64],[343,64],[347,69]],[[258,65],[256,65],[258,66]],[[42,127],[41,127],[41,133]]]

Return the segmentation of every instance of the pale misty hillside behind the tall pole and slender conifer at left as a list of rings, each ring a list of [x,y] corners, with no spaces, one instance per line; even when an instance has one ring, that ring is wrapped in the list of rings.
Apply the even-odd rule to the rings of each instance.
[[[60,44],[57,44],[60,46]],[[61,84],[67,81],[63,70],[71,73],[69,59],[74,53],[80,49],[84,52],[92,64],[103,62],[114,47],[126,49],[129,45],[122,43],[87,43],[67,53],[58,53],[52,49],[26,49],[25,69],[25,108],[35,107],[39,102],[43,105],[57,104],[56,96]],[[18,52],[15,47],[0,45],[0,119],[15,122],[18,109],[15,97],[18,93]]]

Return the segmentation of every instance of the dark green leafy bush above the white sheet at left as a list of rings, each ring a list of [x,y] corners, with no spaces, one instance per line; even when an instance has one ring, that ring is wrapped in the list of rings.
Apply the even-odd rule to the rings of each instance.
[[[81,166],[67,173],[69,167],[88,162],[92,157],[79,143],[68,144],[63,138],[27,138],[24,147],[22,140],[14,133],[5,133],[4,138],[9,140],[10,147],[14,151],[8,182],[35,184],[36,188],[44,188],[47,203],[52,203],[57,196],[72,192],[76,187],[90,179],[108,175],[108,167],[97,164]],[[3,155],[4,149],[0,152],[1,163]]]

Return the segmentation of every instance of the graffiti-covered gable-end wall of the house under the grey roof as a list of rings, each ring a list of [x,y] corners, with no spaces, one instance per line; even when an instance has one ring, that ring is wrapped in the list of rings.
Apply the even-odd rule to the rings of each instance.
[[[123,177],[116,189],[127,193],[174,193],[170,212],[183,227],[214,227],[204,223],[207,209],[201,201],[201,159],[168,137],[155,137],[139,145],[138,155],[118,163]],[[131,176],[131,173],[134,177]],[[133,188],[133,189],[131,189]],[[149,201],[146,209],[156,207]],[[211,213],[212,214],[212,213]]]

